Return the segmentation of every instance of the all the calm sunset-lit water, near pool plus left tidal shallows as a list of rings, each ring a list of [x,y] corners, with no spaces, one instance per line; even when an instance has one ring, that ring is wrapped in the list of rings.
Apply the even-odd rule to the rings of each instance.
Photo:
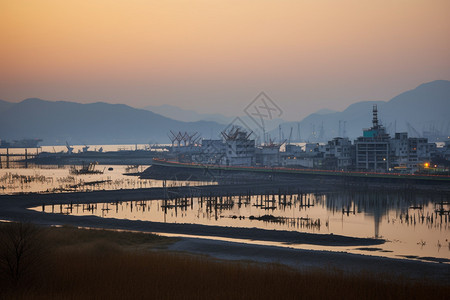
[[[75,146],[74,152],[82,146]],[[104,151],[133,150],[136,145],[92,146]],[[144,149],[146,145],[137,145]],[[43,147],[60,152],[64,146]],[[0,153],[6,151],[0,149]],[[18,153],[24,149],[15,149]],[[14,153],[12,149],[10,153]],[[29,149],[33,153],[36,149]],[[140,179],[126,173],[147,166],[97,165],[103,174],[73,175],[70,166],[10,164],[0,168],[0,194],[28,192],[70,192],[161,187],[161,180]],[[112,168],[112,169],[110,169]],[[168,186],[198,186],[212,182],[168,181]],[[211,200],[211,199],[210,199]],[[290,245],[303,249],[347,251],[387,257],[431,257],[450,260],[450,209],[448,195],[342,192],[327,194],[251,196],[207,199],[153,200],[70,207],[46,206],[45,212],[95,215],[105,218],[193,223],[233,227],[293,230],[300,232],[374,237],[388,240],[373,247],[325,247]],[[35,210],[42,211],[42,207]],[[441,214],[439,210],[447,211]],[[276,244],[264,242],[264,244]]]

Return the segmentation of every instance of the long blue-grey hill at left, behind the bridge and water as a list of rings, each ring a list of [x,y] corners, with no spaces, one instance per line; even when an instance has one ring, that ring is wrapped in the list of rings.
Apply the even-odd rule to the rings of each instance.
[[[167,143],[169,130],[198,131],[203,137],[211,137],[223,127],[215,122],[181,122],[151,111],[102,102],[32,98],[0,111],[2,139],[41,138],[42,144]]]

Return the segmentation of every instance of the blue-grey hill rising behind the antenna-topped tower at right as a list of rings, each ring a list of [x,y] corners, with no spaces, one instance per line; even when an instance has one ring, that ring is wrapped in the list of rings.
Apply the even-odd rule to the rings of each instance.
[[[379,120],[391,135],[394,132],[408,132],[410,136],[417,136],[417,133],[423,135],[424,131],[439,131],[450,135],[450,81],[446,80],[422,84],[387,102],[357,102],[342,112],[325,115],[314,113],[301,122],[282,124],[282,130],[287,137],[292,127],[292,140],[298,139],[298,125],[303,141],[326,141],[337,136],[354,139],[362,135],[363,128],[372,126],[374,104],[378,106]],[[278,136],[275,130],[270,134]]]

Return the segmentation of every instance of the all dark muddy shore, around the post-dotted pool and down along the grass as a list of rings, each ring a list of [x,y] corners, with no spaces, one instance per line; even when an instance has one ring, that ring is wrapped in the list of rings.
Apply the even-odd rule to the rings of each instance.
[[[295,231],[266,230],[257,228],[230,228],[197,224],[174,224],[149,221],[120,220],[95,216],[70,216],[43,213],[30,210],[30,207],[42,205],[111,203],[130,200],[162,199],[167,193],[181,195],[245,195],[246,193],[264,194],[273,192],[320,193],[330,192],[327,185],[311,185],[299,188],[298,184],[280,184],[279,182],[254,183],[245,185],[211,185],[201,187],[148,188],[136,190],[95,191],[59,194],[0,195],[0,219],[8,221],[31,222],[38,225],[72,225],[90,228],[120,229],[142,232],[158,232],[198,236],[183,237],[170,247],[173,251],[208,255],[219,259],[253,260],[257,262],[275,262],[304,268],[338,268],[344,271],[370,271],[392,273],[407,278],[431,278],[448,284],[450,265],[434,262],[421,262],[409,259],[393,259],[371,255],[350,254],[345,246],[373,246],[385,241],[372,238],[354,238],[332,234],[313,234]],[[208,237],[278,242],[285,244],[304,244],[320,246],[344,246],[343,252],[301,250],[267,245],[211,240]]]

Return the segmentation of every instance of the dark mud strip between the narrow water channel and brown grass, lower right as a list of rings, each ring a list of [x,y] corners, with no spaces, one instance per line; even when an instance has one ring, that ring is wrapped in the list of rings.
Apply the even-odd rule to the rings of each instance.
[[[370,272],[385,276],[400,276],[407,280],[431,280],[450,284],[450,266],[407,259],[393,259],[346,252],[293,249],[288,247],[245,244],[202,238],[182,238],[169,246],[172,251],[208,255],[224,260],[245,260],[278,263],[293,269],[325,270],[355,274]]]

